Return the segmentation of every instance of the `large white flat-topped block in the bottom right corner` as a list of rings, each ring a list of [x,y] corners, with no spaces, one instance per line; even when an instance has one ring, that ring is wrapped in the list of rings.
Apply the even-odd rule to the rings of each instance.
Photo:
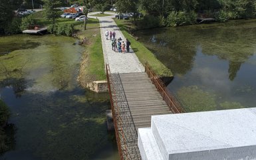
[[[138,146],[142,160],[254,160],[256,108],[152,116]]]

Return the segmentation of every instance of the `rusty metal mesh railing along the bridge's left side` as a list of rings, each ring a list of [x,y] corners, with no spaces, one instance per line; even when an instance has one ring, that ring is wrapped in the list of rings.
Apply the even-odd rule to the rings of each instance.
[[[119,74],[111,74],[108,64],[106,64],[106,78],[120,159],[140,160],[138,145],[136,145],[138,133],[132,120],[124,88]]]

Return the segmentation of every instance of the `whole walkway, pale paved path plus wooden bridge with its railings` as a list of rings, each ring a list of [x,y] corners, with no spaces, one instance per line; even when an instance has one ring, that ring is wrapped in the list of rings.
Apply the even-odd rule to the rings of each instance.
[[[149,64],[142,65],[132,50],[112,50],[105,31],[115,31],[116,37],[125,38],[112,18],[98,17],[118,152],[120,159],[139,160],[138,128],[150,127],[153,115],[183,111]]]

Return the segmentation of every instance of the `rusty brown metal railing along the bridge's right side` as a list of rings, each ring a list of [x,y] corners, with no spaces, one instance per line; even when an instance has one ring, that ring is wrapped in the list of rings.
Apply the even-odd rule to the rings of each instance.
[[[170,93],[170,91],[166,88],[166,85],[162,80],[154,73],[151,66],[146,62],[145,64],[145,72],[148,74],[152,83],[156,86],[158,92],[160,92],[163,100],[169,106],[170,111],[174,114],[180,114],[186,112],[180,102],[176,100],[176,98]]]

